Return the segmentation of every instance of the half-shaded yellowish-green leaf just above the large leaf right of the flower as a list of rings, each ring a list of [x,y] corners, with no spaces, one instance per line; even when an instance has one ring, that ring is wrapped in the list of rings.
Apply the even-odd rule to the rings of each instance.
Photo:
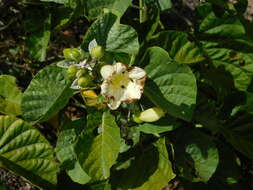
[[[202,50],[189,38],[185,32],[164,31],[159,33],[151,43],[167,50],[170,57],[178,63],[190,64],[203,61],[205,57]]]

